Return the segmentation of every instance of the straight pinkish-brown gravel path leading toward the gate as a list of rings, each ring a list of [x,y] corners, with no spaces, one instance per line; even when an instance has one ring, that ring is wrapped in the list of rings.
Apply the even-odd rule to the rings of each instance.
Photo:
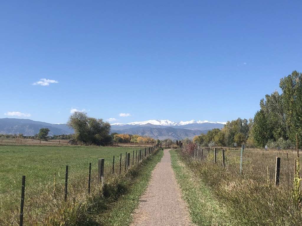
[[[169,149],[152,172],[131,226],[193,225],[171,167]]]

